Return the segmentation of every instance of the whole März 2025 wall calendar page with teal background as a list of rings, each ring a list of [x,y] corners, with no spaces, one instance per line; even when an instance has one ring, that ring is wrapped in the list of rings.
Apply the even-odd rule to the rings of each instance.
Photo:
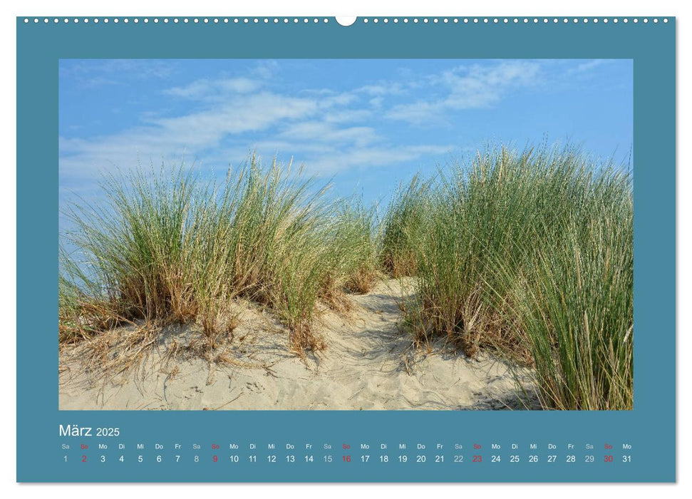
[[[16,480],[674,482],[675,38],[18,17]]]

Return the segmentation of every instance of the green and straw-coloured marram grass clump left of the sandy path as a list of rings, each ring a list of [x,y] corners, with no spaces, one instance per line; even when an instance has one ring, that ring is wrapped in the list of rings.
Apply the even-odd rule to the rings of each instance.
[[[135,319],[195,320],[214,336],[244,297],[286,324],[295,351],[321,348],[316,303],[366,289],[375,270],[373,215],[339,217],[328,188],[254,156],[221,185],[185,168],[109,178],[104,205],[66,211],[76,249],[61,252],[61,337]]]

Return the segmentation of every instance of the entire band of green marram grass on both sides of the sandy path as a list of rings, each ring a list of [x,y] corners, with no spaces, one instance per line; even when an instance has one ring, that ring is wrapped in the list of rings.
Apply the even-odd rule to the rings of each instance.
[[[213,345],[237,324],[227,316],[240,297],[282,321],[303,354],[324,347],[319,304],[341,309],[344,293],[388,274],[415,283],[402,307],[416,339],[507,357],[545,408],[632,408],[626,168],[577,148],[487,148],[401,185],[381,218],[328,190],[254,156],[224,182],[183,167],[108,178],[105,203],[66,210],[61,341],[195,321]]]

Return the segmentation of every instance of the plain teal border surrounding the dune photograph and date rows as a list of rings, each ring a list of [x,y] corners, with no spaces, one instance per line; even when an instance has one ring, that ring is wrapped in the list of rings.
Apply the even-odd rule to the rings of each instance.
[[[69,18],[17,18],[17,480],[19,481],[672,481],[676,479],[676,52],[674,18],[628,18],[614,23],[580,17],[535,23],[504,18],[430,18],[430,22],[277,24],[254,21],[123,17],[78,24]],[[154,22],[154,19],[158,19]],[[194,19],[198,19],[195,22]],[[390,18],[393,19],[393,18]],[[403,19],[403,18],[399,18]],[[453,21],[458,19],[458,22]],[[666,22],[663,20],[666,19]],[[630,58],[634,60],[634,336],[633,411],[58,411],[57,235],[58,60],[61,58]],[[636,461],[614,470],[485,467],[454,472],[392,465],[316,468],[277,465],[175,470],[147,464],[113,475],[61,468],[58,424],[119,426],[140,432],[242,438],[253,428],[267,441],[286,433],[303,441],[380,441],[398,434],[421,438],[497,441],[631,441]],[[284,432],[285,428],[285,432]],[[444,431],[443,431],[444,428]],[[206,439],[206,440],[205,440]],[[262,440],[262,439],[259,439]],[[422,469],[422,468],[421,468]],[[349,474],[350,473],[350,474]],[[580,472],[581,473],[581,472]]]

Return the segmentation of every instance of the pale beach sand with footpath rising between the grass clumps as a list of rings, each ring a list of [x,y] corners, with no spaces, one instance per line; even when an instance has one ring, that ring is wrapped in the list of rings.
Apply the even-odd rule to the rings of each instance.
[[[83,341],[60,354],[61,410],[502,409],[523,408],[507,366],[468,359],[440,341],[411,347],[396,280],[353,295],[351,312],[324,311],[326,349],[301,359],[286,330],[257,307],[245,307],[224,365],[198,355],[167,356],[199,331],[168,326],[136,369],[103,376],[86,364]],[[127,328],[121,328],[123,334]],[[179,349],[185,351],[185,348]],[[92,364],[93,365],[93,364]]]

